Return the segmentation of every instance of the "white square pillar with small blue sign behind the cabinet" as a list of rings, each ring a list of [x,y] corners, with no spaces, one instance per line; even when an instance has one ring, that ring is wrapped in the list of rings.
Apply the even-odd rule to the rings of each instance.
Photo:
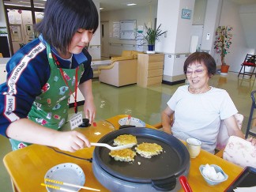
[[[190,19],[182,18],[183,9],[191,10]],[[156,51],[164,52],[163,81],[173,84],[184,81],[183,63],[190,51],[190,32],[194,13],[194,1],[191,0],[159,0],[157,25],[162,24],[167,35],[160,36],[156,42]]]

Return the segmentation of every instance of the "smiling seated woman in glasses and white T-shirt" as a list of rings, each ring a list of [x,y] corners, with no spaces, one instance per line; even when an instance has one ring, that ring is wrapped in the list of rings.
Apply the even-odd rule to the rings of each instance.
[[[229,136],[244,138],[234,117],[238,111],[228,92],[209,86],[209,79],[216,73],[214,58],[205,52],[195,52],[186,58],[183,70],[189,85],[180,86],[168,101],[161,115],[163,130],[183,141],[197,138],[202,142],[202,149],[211,153],[216,148],[221,120]],[[249,141],[256,145],[254,139]]]

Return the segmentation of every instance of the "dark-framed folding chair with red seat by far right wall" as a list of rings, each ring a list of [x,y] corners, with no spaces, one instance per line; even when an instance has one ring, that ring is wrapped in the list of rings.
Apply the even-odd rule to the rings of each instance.
[[[256,74],[256,73],[254,73],[254,70],[255,70],[255,67],[256,67],[255,57],[256,57],[256,55],[247,54],[246,58],[244,58],[244,61],[241,64],[241,69],[239,71],[238,77],[241,74],[241,75],[243,75],[243,77],[246,75],[246,76],[249,76],[251,78],[251,76]],[[246,69],[248,67],[251,68],[250,71],[246,71]]]

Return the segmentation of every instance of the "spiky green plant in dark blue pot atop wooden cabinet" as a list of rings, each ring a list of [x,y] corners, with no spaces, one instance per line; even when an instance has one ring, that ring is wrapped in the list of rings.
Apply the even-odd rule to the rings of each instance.
[[[161,24],[158,26],[158,28],[153,29],[147,27],[145,24],[145,34],[142,33],[142,39],[145,40],[148,43],[148,51],[147,53],[155,53],[155,43],[156,40],[159,40],[159,37],[164,34],[162,30],[160,29]],[[165,31],[167,32],[167,31]]]

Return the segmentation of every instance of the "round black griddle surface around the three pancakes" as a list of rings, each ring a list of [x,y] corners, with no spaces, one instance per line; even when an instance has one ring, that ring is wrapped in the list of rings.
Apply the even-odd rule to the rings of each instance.
[[[137,154],[134,163],[114,160],[109,156],[109,149],[96,147],[93,163],[100,165],[104,171],[119,178],[134,183],[169,183],[182,175],[190,166],[190,155],[181,141],[160,130],[144,127],[132,127],[115,130],[105,135],[99,142],[113,145],[114,139],[122,134],[132,134],[137,137],[137,144],[142,142],[156,143],[164,149],[158,156],[148,159]],[[134,147],[135,148],[135,147]],[[134,151],[135,149],[132,148]]]

